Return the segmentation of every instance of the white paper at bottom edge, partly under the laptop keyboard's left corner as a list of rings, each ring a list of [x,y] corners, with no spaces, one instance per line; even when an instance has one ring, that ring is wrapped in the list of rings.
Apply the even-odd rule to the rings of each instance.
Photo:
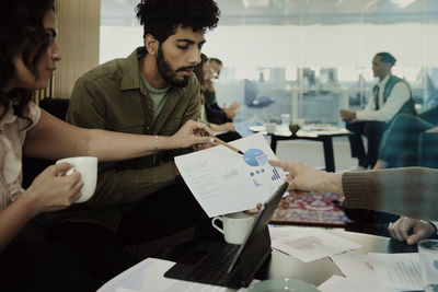
[[[101,287],[97,292],[232,292],[233,289],[165,278],[175,262],[147,258]],[[239,290],[246,291],[245,289]]]

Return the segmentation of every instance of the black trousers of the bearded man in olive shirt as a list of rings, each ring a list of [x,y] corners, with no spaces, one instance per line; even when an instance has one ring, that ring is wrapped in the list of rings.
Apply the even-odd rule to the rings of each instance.
[[[139,261],[125,246],[163,238],[191,226],[196,226],[196,240],[219,236],[187,186],[178,180],[123,212],[115,232],[94,223],[67,222],[49,235],[53,241],[81,249],[91,273],[103,284]]]

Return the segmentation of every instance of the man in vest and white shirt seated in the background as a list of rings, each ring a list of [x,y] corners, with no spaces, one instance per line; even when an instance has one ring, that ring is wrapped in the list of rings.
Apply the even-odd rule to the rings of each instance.
[[[403,79],[391,73],[395,58],[389,52],[379,52],[372,59],[372,73],[379,83],[372,90],[372,96],[362,110],[341,109],[341,118],[353,132],[348,136],[351,156],[358,159],[358,171],[373,167],[383,132],[396,114],[415,115],[415,104],[410,85]],[[362,136],[367,137],[365,152]]]

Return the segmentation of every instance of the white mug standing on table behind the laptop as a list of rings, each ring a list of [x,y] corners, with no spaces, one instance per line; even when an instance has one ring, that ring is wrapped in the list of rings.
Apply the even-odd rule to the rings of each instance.
[[[223,229],[215,224],[217,220],[222,221]],[[223,233],[223,237],[229,244],[242,244],[253,223],[254,215],[246,214],[245,212],[215,217],[211,220],[212,226]]]

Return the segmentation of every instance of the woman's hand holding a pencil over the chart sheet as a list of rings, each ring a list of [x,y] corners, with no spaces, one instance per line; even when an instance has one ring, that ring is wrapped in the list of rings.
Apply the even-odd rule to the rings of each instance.
[[[170,139],[172,140],[173,149],[177,149],[195,144],[212,144],[214,141],[208,136],[214,137],[215,133],[207,125],[200,121],[187,120]]]

